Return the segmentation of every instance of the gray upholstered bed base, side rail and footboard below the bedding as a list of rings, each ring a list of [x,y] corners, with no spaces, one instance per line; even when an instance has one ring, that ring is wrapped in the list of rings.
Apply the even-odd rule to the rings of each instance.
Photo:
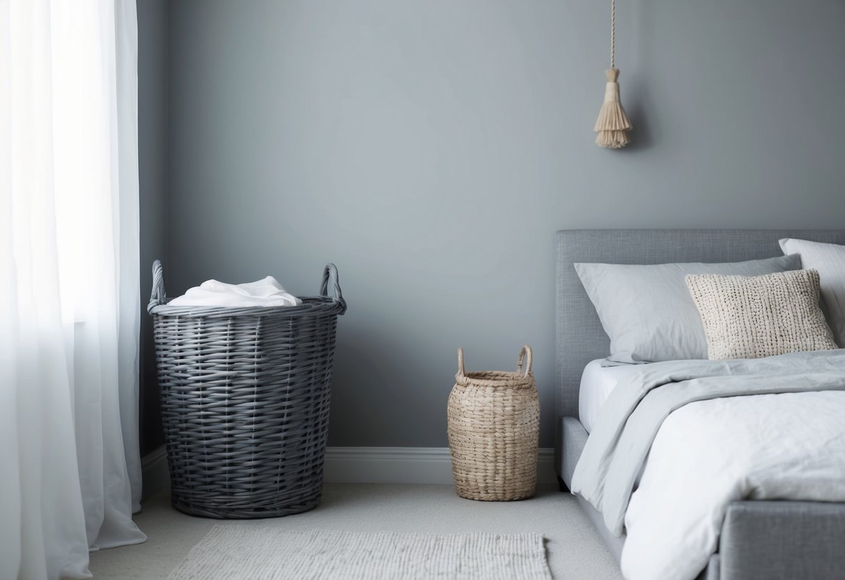
[[[567,490],[587,432],[575,417],[557,426],[555,467]],[[582,511],[619,561],[616,538],[596,508],[578,496]],[[722,523],[719,552],[699,580],[845,579],[845,505],[822,501],[735,501]]]

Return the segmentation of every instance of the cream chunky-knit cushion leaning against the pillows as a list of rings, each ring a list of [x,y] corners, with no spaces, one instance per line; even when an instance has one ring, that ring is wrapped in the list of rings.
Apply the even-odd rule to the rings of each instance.
[[[711,359],[836,348],[819,308],[819,272],[686,276]]]

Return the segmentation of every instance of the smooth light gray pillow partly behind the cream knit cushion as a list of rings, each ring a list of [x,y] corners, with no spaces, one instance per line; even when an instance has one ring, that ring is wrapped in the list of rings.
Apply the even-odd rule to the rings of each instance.
[[[684,277],[799,270],[798,255],[729,264],[575,264],[604,331],[608,364],[707,358],[707,338]]]

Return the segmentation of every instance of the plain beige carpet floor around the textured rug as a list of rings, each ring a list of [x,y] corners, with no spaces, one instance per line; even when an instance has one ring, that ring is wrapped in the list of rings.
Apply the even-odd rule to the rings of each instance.
[[[90,569],[103,580],[166,578],[215,523],[186,516],[155,495],[135,521],[145,544],[91,554]],[[239,523],[243,523],[240,521]],[[575,497],[553,486],[527,501],[464,500],[450,485],[326,484],[322,504],[311,512],[254,525],[290,530],[426,533],[542,533],[553,577],[563,580],[617,580],[619,570],[581,513]]]

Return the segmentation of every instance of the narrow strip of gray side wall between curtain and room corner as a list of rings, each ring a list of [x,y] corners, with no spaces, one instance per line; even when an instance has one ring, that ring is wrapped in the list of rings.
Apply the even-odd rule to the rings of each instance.
[[[150,265],[166,258],[167,191],[166,0],[138,2],[138,147],[141,234],[140,444],[144,455],[164,442],[155,380]]]

